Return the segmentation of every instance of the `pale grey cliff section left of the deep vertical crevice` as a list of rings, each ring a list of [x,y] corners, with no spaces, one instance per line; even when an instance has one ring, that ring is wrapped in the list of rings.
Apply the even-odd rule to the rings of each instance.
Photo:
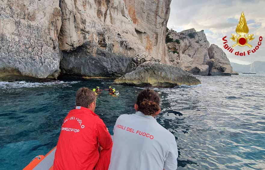
[[[0,77],[57,77],[59,0],[0,0]]]

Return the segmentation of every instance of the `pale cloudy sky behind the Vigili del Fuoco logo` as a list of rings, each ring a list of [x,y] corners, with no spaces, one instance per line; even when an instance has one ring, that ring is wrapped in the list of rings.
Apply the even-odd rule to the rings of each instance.
[[[187,1],[172,0],[168,28],[177,32],[195,28],[204,30],[208,41],[223,49],[231,62],[250,64],[252,61],[265,61],[265,0],[214,0],[214,1]],[[254,34],[255,39],[249,42],[253,47],[234,47],[235,51],[248,51],[257,46],[262,36],[260,48],[251,55],[236,56],[223,47],[222,38],[226,35],[228,45],[235,42],[230,40],[231,34],[236,34],[236,26],[242,11],[245,13],[248,34]]]

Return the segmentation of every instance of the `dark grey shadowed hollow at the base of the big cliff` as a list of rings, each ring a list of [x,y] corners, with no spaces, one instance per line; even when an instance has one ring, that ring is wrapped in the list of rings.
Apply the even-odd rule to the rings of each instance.
[[[93,54],[88,46],[86,43],[74,51],[63,51],[61,75],[119,77],[132,70],[132,58],[100,48]]]

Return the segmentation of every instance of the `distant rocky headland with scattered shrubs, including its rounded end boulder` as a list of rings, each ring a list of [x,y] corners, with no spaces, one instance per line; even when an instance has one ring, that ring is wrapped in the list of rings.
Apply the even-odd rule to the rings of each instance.
[[[203,32],[194,28],[181,32],[168,31],[166,36],[171,64],[196,75],[231,75],[232,67],[226,54],[211,44]]]

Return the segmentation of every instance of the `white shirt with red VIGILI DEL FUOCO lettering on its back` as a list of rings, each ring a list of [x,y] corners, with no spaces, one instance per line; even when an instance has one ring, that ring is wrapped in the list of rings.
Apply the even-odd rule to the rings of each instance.
[[[175,137],[153,116],[121,115],[113,132],[109,170],[177,169]]]

